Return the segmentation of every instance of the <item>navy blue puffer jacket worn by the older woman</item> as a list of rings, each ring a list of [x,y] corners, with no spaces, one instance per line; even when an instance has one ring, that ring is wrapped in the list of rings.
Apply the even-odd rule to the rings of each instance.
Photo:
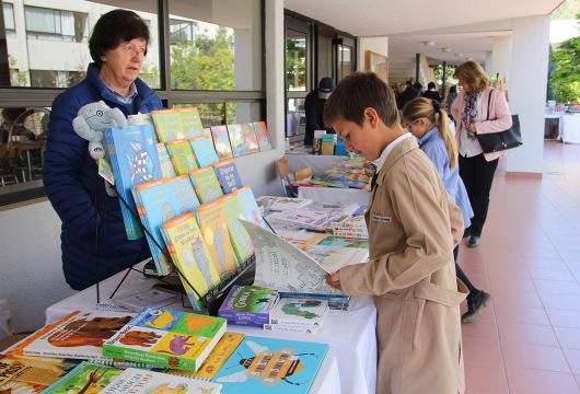
[[[137,79],[134,114],[160,109],[161,101]],[[95,63],[86,79],[59,94],[53,103],[44,162],[44,187],[62,221],[62,269],[71,288],[82,290],[150,255],[144,237],[129,241],[118,198],[107,196],[104,179],[89,155],[89,142],[72,128],[72,119],[85,104],[103,100],[132,115],[98,78]]]

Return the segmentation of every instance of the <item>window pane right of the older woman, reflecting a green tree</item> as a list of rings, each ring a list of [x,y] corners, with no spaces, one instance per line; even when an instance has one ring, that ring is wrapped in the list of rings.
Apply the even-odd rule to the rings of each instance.
[[[170,0],[169,3],[171,19],[181,22],[172,27],[170,40],[173,89],[263,89],[260,1]]]

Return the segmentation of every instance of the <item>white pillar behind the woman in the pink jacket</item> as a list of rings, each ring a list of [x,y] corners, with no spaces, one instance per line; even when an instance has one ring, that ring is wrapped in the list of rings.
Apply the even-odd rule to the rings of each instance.
[[[508,96],[511,112],[520,116],[523,146],[509,152],[506,169],[542,173],[549,16],[517,19],[512,26]]]

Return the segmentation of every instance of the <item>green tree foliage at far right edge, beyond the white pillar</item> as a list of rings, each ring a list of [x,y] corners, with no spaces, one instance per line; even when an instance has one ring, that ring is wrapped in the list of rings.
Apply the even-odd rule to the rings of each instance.
[[[550,55],[550,85],[559,103],[580,102],[580,37],[565,40]]]

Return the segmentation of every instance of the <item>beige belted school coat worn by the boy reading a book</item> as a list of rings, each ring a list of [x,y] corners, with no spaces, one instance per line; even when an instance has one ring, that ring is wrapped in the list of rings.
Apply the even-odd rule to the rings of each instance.
[[[386,158],[366,215],[370,263],[339,270],[348,294],[374,296],[376,393],[464,392],[453,247],[460,209],[415,138]]]

